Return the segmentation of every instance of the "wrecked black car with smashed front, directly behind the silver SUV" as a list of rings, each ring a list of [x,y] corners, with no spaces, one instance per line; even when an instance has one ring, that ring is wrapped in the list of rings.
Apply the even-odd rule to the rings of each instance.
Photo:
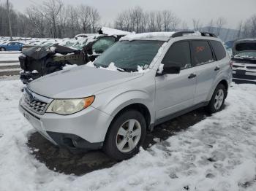
[[[46,74],[60,71],[67,64],[83,65],[94,61],[98,55],[127,34],[129,32],[103,27],[99,29],[99,34],[77,36],[75,41],[69,40],[61,44],[23,50],[19,57],[20,67],[23,69],[20,72],[20,79],[27,84]]]

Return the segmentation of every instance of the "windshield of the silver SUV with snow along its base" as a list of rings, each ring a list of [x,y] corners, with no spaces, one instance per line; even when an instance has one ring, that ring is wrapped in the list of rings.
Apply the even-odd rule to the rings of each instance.
[[[121,41],[113,44],[95,62],[97,67],[107,68],[110,63],[124,71],[137,71],[147,69],[151,61],[157,55],[162,41]]]

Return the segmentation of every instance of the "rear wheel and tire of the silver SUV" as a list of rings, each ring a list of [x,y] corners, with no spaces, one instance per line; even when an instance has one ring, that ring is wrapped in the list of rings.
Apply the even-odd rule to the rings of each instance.
[[[226,87],[222,84],[217,85],[216,89],[214,90],[214,94],[211,97],[210,103],[208,104],[208,106],[206,106],[207,111],[210,114],[219,112],[223,108],[226,97]]]

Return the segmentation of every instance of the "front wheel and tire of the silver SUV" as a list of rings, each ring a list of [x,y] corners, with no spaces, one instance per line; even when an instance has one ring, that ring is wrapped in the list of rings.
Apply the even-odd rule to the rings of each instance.
[[[146,120],[143,114],[131,109],[118,114],[113,120],[105,138],[103,151],[114,160],[126,160],[139,152],[145,138]]]

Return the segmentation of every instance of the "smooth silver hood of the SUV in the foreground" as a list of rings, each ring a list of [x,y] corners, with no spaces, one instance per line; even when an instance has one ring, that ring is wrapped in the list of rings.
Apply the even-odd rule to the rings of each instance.
[[[48,98],[84,98],[142,75],[77,66],[36,79],[28,87],[32,92]]]

